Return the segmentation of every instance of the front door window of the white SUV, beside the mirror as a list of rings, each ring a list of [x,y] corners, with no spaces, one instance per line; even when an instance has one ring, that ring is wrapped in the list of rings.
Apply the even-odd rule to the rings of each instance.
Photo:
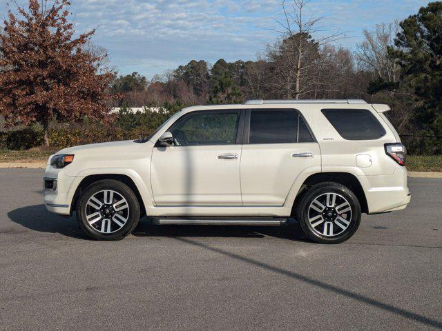
[[[172,128],[175,145],[229,145],[236,142],[240,112],[197,112]]]

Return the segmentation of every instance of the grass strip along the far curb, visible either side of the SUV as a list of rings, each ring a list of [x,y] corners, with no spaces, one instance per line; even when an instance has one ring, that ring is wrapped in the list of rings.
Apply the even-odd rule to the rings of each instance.
[[[46,163],[60,148],[31,148],[30,150],[0,150],[0,162]],[[442,172],[442,155],[407,155],[410,171]]]

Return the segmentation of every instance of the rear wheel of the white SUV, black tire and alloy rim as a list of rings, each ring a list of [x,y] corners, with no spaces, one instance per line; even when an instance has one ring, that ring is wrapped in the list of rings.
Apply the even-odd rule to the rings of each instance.
[[[327,196],[327,194],[329,195]],[[343,203],[344,207],[337,209],[336,203],[334,204],[335,207],[332,207],[332,203],[329,203],[328,206],[327,201],[336,202],[332,199],[339,200],[338,203]],[[315,200],[326,201],[326,203],[319,206],[316,202],[314,203]],[[349,207],[345,204],[345,201],[347,201]],[[312,203],[314,205],[311,205]],[[323,207],[325,209],[322,211],[318,210]],[[347,211],[348,208],[351,209]],[[318,216],[319,214],[321,216]],[[361,204],[352,190],[344,185],[334,182],[318,183],[302,192],[302,196],[295,205],[295,217],[300,223],[302,231],[312,241],[316,243],[342,243],[352,237],[354,232],[358,230],[359,223],[361,223]],[[315,217],[316,221],[312,221]],[[323,220],[322,223],[321,219]],[[342,219],[344,220],[341,221]],[[347,224],[347,222],[349,223]],[[343,230],[344,227],[347,228]],[[336,235],[333,235],[335,228]]]

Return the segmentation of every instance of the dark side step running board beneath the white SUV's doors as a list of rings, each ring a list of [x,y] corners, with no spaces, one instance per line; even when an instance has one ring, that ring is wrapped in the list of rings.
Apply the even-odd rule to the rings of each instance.
[[[156,217],[152,218],[154,224],[160,225],[284,225],[287,218],[278,217],[247,217],[247,218],[178,218],[178,217]]]

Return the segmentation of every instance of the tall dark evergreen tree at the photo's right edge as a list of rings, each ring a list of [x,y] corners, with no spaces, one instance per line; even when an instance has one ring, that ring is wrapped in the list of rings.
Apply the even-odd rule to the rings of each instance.
[[[430,2],[400,23],[389,48],[402,67],[403,84],[420,101],[417,120],[423,129],[442,134],[442,2]]]

